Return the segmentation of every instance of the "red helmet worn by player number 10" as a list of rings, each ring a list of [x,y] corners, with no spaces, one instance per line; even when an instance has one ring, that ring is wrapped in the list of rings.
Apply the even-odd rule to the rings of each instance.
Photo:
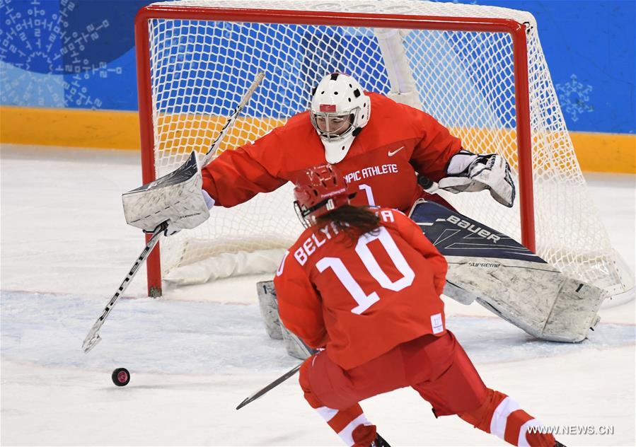
[[[308,168],[296,180],[294,207],[301,223],[311,226],[316,218],[332,209],[348,204],[349,186],[335,166],[320,165]]]

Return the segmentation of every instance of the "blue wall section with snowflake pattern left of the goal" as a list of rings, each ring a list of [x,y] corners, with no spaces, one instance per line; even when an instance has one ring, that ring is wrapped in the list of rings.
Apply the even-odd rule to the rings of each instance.
[[[133,23],[148,3],[0,0],[0,103],[136,110]]]

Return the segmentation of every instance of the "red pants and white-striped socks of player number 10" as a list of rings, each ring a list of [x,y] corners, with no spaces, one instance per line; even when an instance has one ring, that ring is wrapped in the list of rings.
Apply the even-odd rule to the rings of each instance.
[[[458,414],[516,446],[555,445],[551,434],[526,433],[539,422],[507,395],[486,388],[451,332],[400,344],[348,371],[319,352],[301,366],[299,382],[309,405],[349,446],[370,446],[376,436],[358,402],[406,386],[432,404],[436,417]]]

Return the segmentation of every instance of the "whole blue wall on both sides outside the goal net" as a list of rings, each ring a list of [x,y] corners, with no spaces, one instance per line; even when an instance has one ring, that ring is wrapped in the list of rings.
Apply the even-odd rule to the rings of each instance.
[[[0,104],[137,110],[141,0],[0,0]],[[531,11],[570,130],[633,134],[635,1],[458,1]]]

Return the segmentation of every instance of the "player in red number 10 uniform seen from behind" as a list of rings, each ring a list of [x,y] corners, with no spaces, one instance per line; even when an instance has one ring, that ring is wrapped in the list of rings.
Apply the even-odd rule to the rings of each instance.
[[[517,446],[560,446],[510,397],[487,388],[446,329],[446,261],[399,211],[350,204],[333,166],[296,183],[308,227],[274,279],[280,317],[314,348],[299,382],[309,405],[349,446],[378,443],[360,400],[410,386],[436,417],[457,414]],[[379,442],[381,445],[381,442]]]

